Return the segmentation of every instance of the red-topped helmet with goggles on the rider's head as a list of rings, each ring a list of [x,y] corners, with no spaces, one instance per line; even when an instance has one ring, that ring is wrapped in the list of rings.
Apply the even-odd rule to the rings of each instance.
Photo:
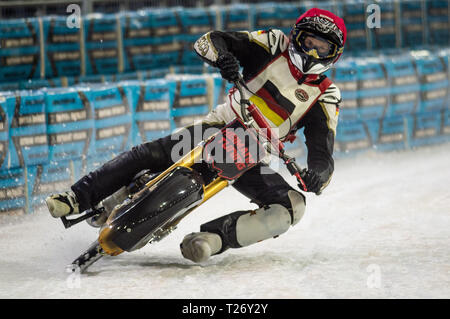
[[[347,29],[335,14],[313,8],[301,15],[289,37],[289,57],[304,74],[328,70],[344,51]]]

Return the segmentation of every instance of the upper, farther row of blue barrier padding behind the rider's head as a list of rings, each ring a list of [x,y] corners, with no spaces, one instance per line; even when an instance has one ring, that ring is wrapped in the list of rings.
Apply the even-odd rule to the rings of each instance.
[[[356,56],[367,49],[449,45],[448,0],[380,0],[381,28],[368,28],[366,0],[262,3],[214,8],[161,8],[118,15],[83,17],[81,27],[68,25],[66,16],[48,16],[0,23],[0,90],[36,89],[12,80],[84,77],[129,73],[177,66],[200,66],[192,50],[199,36],[212,30],[279,28],[289,34],[295,19],[318,6],[346,21],[346,52]],[[152,78],[157,76],[150,75]],[[149,77],[146,77],[149,78]],[[91,79],[89,79],[91,83]],[[49,82],[49,86],[52,86]],[[55,82],[54,85],[58,85]]]

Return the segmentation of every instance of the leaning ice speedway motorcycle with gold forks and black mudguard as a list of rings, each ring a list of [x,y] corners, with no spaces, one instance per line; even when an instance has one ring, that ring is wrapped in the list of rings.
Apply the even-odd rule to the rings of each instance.
[[[162,240],[184,217],[260,163],[267,153],[276,153],[306,190],[295,159],[286,154],[259,109],[244,98],[244,90],[251,92],[245,82],[234,84],[239,91],[242,119],[234,119],[205,138],[165,171],[141,172],[130,185],[80,217],[61,217],[65,228],[83,220],[95,223],[96,219],[106,219],[101,221],[97,240],[70,265],[73,272],[84,272],[105,255],[117,256]],[[235,134],[236,130],[246,133],[245,141]]]

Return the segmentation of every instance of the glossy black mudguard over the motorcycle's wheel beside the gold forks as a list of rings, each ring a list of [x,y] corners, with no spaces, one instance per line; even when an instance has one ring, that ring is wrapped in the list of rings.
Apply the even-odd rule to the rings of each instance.
[[[108,254],[116,254],[159,241],[202,202],[203,195],[201,176],[191,168],[175,167],[117,207],[104,225],[99,242]]]

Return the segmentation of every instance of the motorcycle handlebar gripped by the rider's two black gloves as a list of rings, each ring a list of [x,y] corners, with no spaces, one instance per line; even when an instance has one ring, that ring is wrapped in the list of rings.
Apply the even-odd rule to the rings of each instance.
[[[299,185],[302,186],[304,191],[307,191],[307,187],[305,182],[303,181],[302,175],[304,170],[302,170],[297,163],[295,162],[295,158],[290,157],[286,154],[284,149],[283,142],[280,141],[280,138],[278,135],[272,130],[272,127],[267,122],[264,115],[261,114],[261,111],[253,104],[250,103],[248,99],[244,98],[244,90],[245,88],[247,91],[250,91],[247,88],[247,85],[243,81],[243,79],[239,79],[238,81],[234,82],[234,85],[236,86],[237,90],[239,91],[240,96],[240,105],[241,105],[241,115],[245,123],[251,123],[251,119],[247,115],[247,111],[251,115],[252,119],[258,124],[258,126],[262,129],[266,130],[266,134],[263,134],[267,137],[268,141],[272,144],[275,150],[277,150],[277,155],[283,160],[284,164],[286,165],[286,168],[288,169],[289,173],[297,178],[297,181],[299,182]]]

